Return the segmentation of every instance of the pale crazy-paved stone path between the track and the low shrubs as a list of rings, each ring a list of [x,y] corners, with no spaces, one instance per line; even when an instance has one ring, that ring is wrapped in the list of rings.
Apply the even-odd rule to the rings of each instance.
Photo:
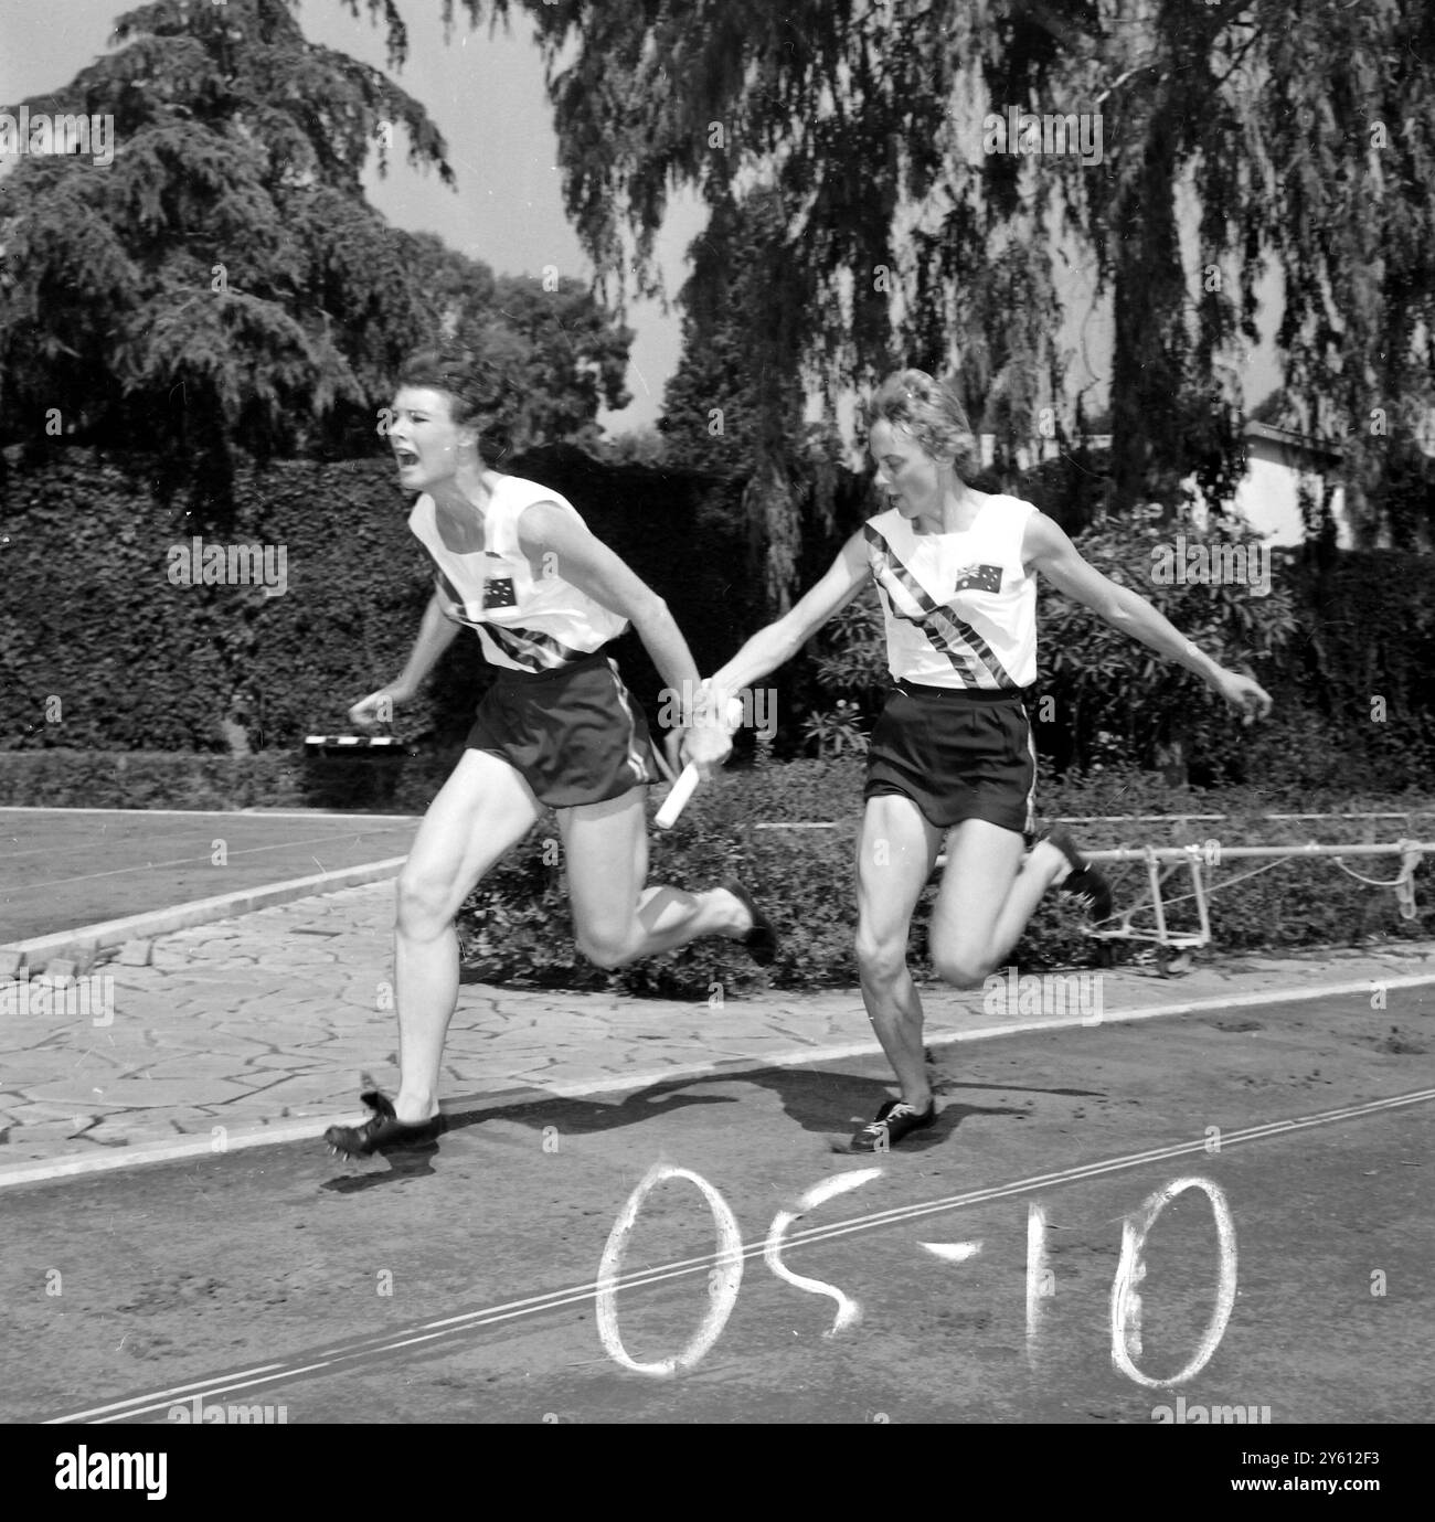
[[[292,1122],[312,1122],[317,1134],[359,1113],[365,1070],[393,1091],[393,883],[374,883],[161,936],[149,966],[96,966],[85,1011],[62,997],[37,1008],[17,985],[6,1005],[0,985],[0,1181],[17,1164],[202,1142],[219,1137],[216,1128],[292,1132]],[[1100,986],[1105,1018],[1115,1018],[1418,976],[1435,982],[1435,944],[1211,959],[1178,979],[1126,968],[1100,974]],[[933,1041],[1030,1023],[1015,1011],[985,1012],[980,991],[933,985],[924,1001]],[[1389,1011],[1371,1018],[1398,1024]],[[711,1009],[706,1000],[464,985],[443,1097],[452,1106],[475,1096],[593,1093],[873,1047],[855,989],[729,997]]]

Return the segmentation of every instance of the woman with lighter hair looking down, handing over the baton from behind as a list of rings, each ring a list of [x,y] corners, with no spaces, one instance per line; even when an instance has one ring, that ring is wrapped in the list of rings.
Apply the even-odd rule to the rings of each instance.
[[[936,971],[956,988],[978,988],[1003,963],[1048,887],[1073,893],[1096,919],[1111,913],[1109,886],[1067,829],[1042,831],[1023,855],[1035,825],[1036,752],[1023,696],[1036,680],[1036,574],[1204,677],[1245,723],[1271,709],[1255,682],[1219,667],[1146,598],[1090,566],[1033,504],[972,490],[965,476],[977,440],[947,385],[921,370],[898,371],[870,416],[875,479],[892,505],[714,674],[705,696],[721,714],[729,694],[790,661],[877,583],[896,686],[867,755],[857,965],[901,1097],[852,1137],[857,1152],[886,1151],[936,1120],[907,938],[948,831],[930,944]]]

